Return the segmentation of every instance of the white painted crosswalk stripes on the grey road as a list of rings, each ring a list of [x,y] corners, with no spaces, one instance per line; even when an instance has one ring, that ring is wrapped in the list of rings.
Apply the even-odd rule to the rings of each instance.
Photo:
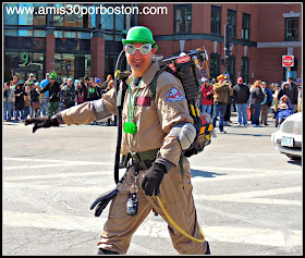
[[[23,161],[30,164],[24,165],[7,165],[4,167],[4,172],[7,171],[19,171],[23,169],[42,169],[46,167],[71,167],[71,165],[112,165],[112,162],[91,162],[91,161],[61,161],[61,160],[47,160],[47,159],[28,159],[28,158],[3,158],[4,161]],[[223,171],[233,171],[233,169],[228,168],[216,168],[216,167],[194,167],[194,170],[200,171],[213,171],[216,173],[221,173]],[[124,170],[120,170],[120,174]],[[217,177],[192,177],[194,185],[203,182],[219,182],[219,181],[230,181],[237,179],[254,179],[254,177],[270,177],[279,176],[283,172],[272,171],[272,170],[252,170],[242,169],[239,170],[240,174],[221,174]],[[300,174],[300,171],[289,171],[289,174]],[[70,177],[87,177],[96,179],[100,175],[106,175],[108,179],[111,177],[113,172],[111,170],[100,171],[77,171],[75,173],[53,173],[53,174],[27,174],[27,175],[7,175],[3,182],[3,193],[8,193],[10,189],[19,188],[26,189],[28,187],[35,191],[49,191],[53,193],[77,193],[82,194],[100,194],[101,186],[99,183],[91,184],[93,181],[88,181],[87,184],[83,186],[64,186],[64,185],[51,185],[47,182],[39,182],[41,180],[61,180]],[[29,184],[29,182],[33,182]],[[113,183],[114,185],[114,183]],[[111,189],[113,185],[106,184],[102,185],[102,191],[106,192]],[[212,201],[234,201],[234,202],[249,202],[249,204],[265,204],[265,205],[278,205],[278,206],[302,206],[300,200],[288,200],[284,198],[283,194],[302,193],[302,187],[281,187],[266,191],[251,191],[242,193],[230,193],[222,195],[196,195],[194,194],[195,201],[202,200],[212,200]],[[272,195],[283,195],[282,198],[270,198]],[[221,211],[217,211],[221,212]],[[167,223],[160,218],[149,219],[149,217],[144,221],[139,229],[135,232],[137,236],[150,236],[150,237],[162,237],[170,242],[169,233],[167,231]],[[3,225],[5,226],[28,226],[28,228],[39,228],[39,229],[53,229],[62,231],[84,231],[84,232],[96,232],[100,233],[102,225],[107,220],[107,213],[99,218],[94,217],[93,211],[88,213],[88,217],[71,216],[68,213],[54,214],[54,213],[38,213],[38,212],[20,212],[3,210]],[[242,226],[203,226],[206,238],[209,241],[227,242],[227,243],[242,243],[242,244],[253,244],[253,245],[264,245],[264,246],[277,246],[277,247],[293,247],[302,246],[302,231],[293,230],[276,230],[276,229],[259,229],[259,228],[242,228]],[[150,249],[145,246],[136,245],[132,243],[137,249],[141,249],[144,254],[154,255]]]

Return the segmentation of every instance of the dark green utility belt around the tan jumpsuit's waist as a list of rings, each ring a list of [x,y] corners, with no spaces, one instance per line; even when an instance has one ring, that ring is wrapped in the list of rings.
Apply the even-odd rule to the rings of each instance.
[[[132,161],[132,164],[136,164],[138,170],[148,170],[152,165],[152,162],[156,160],[158,151],[159,148],[149,149],[142,152],[130,151],[126,155],[126,159],[124,160],[123,165],[127,168],[129,162]]]

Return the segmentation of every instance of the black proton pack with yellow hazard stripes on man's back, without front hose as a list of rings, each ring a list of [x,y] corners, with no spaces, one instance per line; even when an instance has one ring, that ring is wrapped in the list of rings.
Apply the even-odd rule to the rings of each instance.
[[[196,137],[193,144],[183,152],[185,157],[191,157],[203,151],[205,146],[210,144],[210,137],[213,133],[210,116],[208,113],[200,114],[199,110],[200,86],[195,66],[198,59],[203,59],[203,52],[200,51],[159,61],[160,70],[149,85],[150,98],[155,100],[157,79],[163,71],[170,72],[182,83],[190,114],[194,120],[194,127],[196,128]]]

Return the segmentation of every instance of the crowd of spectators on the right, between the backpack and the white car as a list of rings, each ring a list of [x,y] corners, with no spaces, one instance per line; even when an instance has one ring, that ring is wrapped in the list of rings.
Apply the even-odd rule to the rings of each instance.
[[[212,125],[219,121],[219,132],[227,133],[223,126],[231,126],[231,110],[237,113],[237,126],[268,126],[268,114],[273,113],[278,126],[279,113],[302,112],[302,86],[295,85],[292,77],[288,82],[267,85],[257,79],[253,84],[245,84],[242,77],[232,85],[229,74],[220,74],[217,78],[203,77],[200,108],[212,118]]]

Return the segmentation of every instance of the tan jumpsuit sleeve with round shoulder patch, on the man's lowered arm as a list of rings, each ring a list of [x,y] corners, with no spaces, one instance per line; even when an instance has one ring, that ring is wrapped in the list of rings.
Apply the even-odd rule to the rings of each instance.
[[[181,146],[179,139],[169,134],[172,126],[176,123],[191,123],[194,121],[188,113],[187,102],[181,82],[169,73],[162,73],[158,77],[156,90],[156,106],[159,121],[162,130],[167,134],[163,145],[160,148],[160,155],[163,159],[169,160],[178,165],[181,156]],[[182,94],[182,100],[170,101],[169,94],[174,88]]]

